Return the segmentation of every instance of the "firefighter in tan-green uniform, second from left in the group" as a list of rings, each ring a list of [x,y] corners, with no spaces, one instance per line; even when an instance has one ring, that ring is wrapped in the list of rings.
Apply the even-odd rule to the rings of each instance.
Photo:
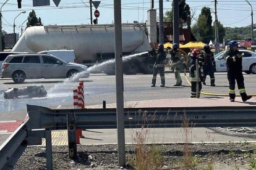
[[[171,54],[171,66],[174,68],[174,75],[176,79],[176,84],[173,86],[182,86],[182,80],[180,75],[181,63],[183,63],[184,68],[186,68],[186,61],[184,55],[178,51],[178,44],[173,44],[173,50],[170,51]]]

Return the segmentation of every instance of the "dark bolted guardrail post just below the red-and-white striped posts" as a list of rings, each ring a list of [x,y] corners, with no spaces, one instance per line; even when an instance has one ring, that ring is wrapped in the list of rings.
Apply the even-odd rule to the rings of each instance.
[[[69,143],[69,158],[74,160],[77,156],[75,113],[67,113],[67,139]]]

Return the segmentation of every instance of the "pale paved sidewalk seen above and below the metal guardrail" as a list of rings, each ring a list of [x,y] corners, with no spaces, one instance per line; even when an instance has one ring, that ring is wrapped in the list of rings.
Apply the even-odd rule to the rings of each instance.
[[[256,106],[255,99],[242,102],[241,97],[236,102],[229,102],[229,97],[205,97],[201,99],[161,99],[126,102],[124,107],[223,107],[223,106]],[[116,103],[107,104],[106,108],[115,108]],[[87,108],[102,108],[102,105],[93,105]],[[177,125],[178,126],[178,125]],[[238,128],[238,127],[237,127]],[[254,138],[226,136],[212,129],[203,127],[191,127],[189,129],[189,141],[187,142],[255,142]],[[126,144],[135,143],[138,132],[147,132],[147,143],[183,143],[186,142],[187,129],[177,128],[151,128],[125,129]],[[82,131],[85,138],[80,138],[80,144],[117,144],[117,129],[90,129]],[[53,145],[67,145],[67,131],[53,131]],[[43,140],[45,145],[45,140]]]

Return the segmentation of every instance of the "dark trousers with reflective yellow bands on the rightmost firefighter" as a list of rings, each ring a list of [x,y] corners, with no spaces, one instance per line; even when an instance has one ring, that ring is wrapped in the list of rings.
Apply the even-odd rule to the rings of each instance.
[[[229,81],[229,98],[230,99],[236,98],[235,87],[237,83],[237,87],[239,89],[239,93],[242,97],[242,100],[246,100],[247,94],[245,92],[244,76],[242,75],[242,72],[232,73],[231,71],[228,71],[228,81]]]

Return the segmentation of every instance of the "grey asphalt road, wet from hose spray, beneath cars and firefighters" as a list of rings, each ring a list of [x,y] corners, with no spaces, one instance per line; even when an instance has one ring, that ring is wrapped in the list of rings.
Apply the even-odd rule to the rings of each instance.
[[[187,73],[188,74],[188,73]],[[150,87],[152,75],[124,75],[124,106],[126,102],[138,100],[155,99],[182,99],[190,97],[190,86],[182,76],[181,87],[174,87],[174,73],[165,74],[166,87],[160,87],[160,76],[157,76],[156,87]],[[226,73],[215,73],[216,87],[209,86],[210,78],[207,77],[207,86],[203,86],[203,91],[218,94],[228,94],[228,80]],[[247,94],[255,94],[256,75],[244,75],[245,89]],[[105,74],[91,74],[90,78],[82,79],[84,81],[85,106],[99,105],[106,103],[116,103],[116,79],[115,76]],[[65,79],[29,79],[23,84],[14,84],[12,79],[0,79],[0,94],[8,88],[27,87],[33,85],[45,86],[48,95],[41,98],[28,99],[4,99],[0,96],[0,144],[4,142],[7,136],[11,134],[12,129],[6,130],[3,123],[22,121],[27,115],[26,104],[41,105],[50,108],[72,108],[72,89],[78,85],[77,82],[71,83]],[[237,91],[238,93],[238,91]],[[209,97],[201,95],[201,97]],[[255,100],[255,99],[251,99]],[[184,103],[186,105],[186,103]]]

